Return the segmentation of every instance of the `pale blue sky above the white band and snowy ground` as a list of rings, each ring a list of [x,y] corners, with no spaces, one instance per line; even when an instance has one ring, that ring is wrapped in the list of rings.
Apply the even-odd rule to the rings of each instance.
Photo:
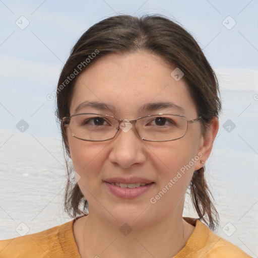
[[[55,103],[46,96],[77,39],[104,18],[165,15],[196,38],[214,69],[241,71],[258,66],[257,10],[257,0],[0,1],[0,126],[17,130],[24,119],[27,133],[58,136]]]

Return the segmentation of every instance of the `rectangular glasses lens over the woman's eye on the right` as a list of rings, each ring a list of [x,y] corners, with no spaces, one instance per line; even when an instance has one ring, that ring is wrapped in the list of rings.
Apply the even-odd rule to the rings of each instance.
[[[150,141],[168,141],[183,137],[187,120],[180,115],[152,115],[137,121],[139,135]]]

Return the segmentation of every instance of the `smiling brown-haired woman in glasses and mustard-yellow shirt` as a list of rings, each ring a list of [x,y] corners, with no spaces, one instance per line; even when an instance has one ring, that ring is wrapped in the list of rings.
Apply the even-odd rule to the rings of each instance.
[[[121,15],[92,26],[57,87],[75,219],[1,241],[1,257],[250,257],[211,231],[204,165],[220,109],[216,76],[179,25]],[[187,188],[198,219],[182,217]]]

